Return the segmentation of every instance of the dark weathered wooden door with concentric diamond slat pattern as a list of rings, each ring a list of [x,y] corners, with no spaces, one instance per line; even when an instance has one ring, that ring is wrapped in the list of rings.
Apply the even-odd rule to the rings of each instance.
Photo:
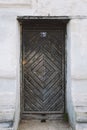
[[[23,114],[64,113],[64,28],[23,29]]]

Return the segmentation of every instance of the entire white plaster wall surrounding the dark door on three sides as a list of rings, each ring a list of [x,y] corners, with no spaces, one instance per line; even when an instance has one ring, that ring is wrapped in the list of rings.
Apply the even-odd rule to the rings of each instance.
[[[73,127],[87,129],[87,0],[0,0],[1,129],[9,125],[16,130],[20,115],[21,41],[17,16],[48,15],[70,17],[66,39],[67,111]]]

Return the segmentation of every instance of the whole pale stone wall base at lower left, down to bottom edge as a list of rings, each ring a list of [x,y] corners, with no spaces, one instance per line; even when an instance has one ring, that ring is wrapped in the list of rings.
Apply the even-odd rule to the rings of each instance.
[[[0,92],[0,130],[13,130],[15,96],[11,92]]]

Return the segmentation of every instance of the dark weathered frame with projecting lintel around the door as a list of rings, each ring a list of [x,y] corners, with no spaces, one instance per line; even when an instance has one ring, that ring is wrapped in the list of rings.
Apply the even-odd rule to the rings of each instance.
[[[55,19],[59,20],[60,22],[64,22],[66,24],[66,33],[65,33],[65,112],[67,111],[66,109],[66,104],[67,100],[67,94],[66,94],[66,82],[67,82],[67,25],[69,22],[69,18],[67,16],[65,17],[58,17],[58,16],[19,16],[18,21],[20,23],[20,29],[21,29],[21,39],[22,39],[22,24],[25,21],[29,21],[30,19]],[[21,45],[20,45],[20,57],[22,57],[22,40],[21,40]],[[22,119],[22,58],[20,59],[20,117]]]

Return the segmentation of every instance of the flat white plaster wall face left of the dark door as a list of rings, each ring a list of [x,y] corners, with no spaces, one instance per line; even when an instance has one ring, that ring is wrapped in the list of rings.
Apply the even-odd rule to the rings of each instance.
[[[20,94],[17,91],[20,87],[18,85],[20,39],[15,17],[9,17],[6,12],[4,14],[0,14],[0,122],[9,122],[15,120],[16,104],[19,102],[16,95]],[[18,112],[20,107],[17,109]]]

